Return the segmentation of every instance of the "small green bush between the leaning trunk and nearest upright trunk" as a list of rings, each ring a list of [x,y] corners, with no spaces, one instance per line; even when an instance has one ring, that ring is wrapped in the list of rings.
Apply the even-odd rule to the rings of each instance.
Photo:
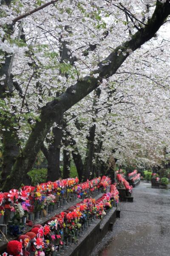
[[[46,181],[47,169],[46,168],[33,169],[30,172],[28,172],[28,176],[31,178],[31,185],[35,186],[38,183],[43,183]]]

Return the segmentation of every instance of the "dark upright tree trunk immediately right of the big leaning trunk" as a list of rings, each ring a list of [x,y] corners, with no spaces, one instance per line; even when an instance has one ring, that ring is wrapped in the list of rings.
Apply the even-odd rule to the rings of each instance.
[[[53,134],[54,134],[54,140],[49,146],[49,151],[48,151],[47,181],[48,180],[55,181],[61,177],[59,164],[60,164],[62,128],[54,127]]]

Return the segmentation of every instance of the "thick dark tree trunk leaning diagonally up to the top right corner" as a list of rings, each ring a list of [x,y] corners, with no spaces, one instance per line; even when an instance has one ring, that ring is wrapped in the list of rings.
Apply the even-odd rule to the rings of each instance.
[[[3,185],[3,190],[8,190],[13,187],[18,188],[23,182],[22,177],[31,169],[35,158],[37,156],[40,147],[45,140],[45,136],[48,133],[50,127],[56,120],[59,121],[59,116],[71,108],[74,104],[79,102],[91,91],[96,89],[102,79],[112,76],[118,68],[122,65],[125,59],[128,57],[128,49],[135,51],[142,46],[145,42],[149,41],[158,31],[160,26],[164,23],[166,18],[170,15],[170,3],[157,2],[155,11],[148,21],[147,25],[137,31],[129,41],[126,41],[122,45],[116,47],[105,60],[98,64],[98,69],[94,73],[99,73],[98,78],[88,75],[84,79],[77,81],[76,84],[69,87],[64,93],[51,102],[48,102],[41,110],[40,122],[37,122],[34,126],[34,130],[31,132],[23,154],[17,157],[17,160],[13,166],[10,177]],[[117,54],[121,49],[121,54]],[[103,63],[108,63],[107,66],[103,66]]]

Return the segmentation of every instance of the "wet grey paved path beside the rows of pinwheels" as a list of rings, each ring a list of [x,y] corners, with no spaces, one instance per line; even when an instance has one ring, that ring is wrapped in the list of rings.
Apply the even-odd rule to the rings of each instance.
[[[141,182],[91,256],[170,256],[170,190]]]

